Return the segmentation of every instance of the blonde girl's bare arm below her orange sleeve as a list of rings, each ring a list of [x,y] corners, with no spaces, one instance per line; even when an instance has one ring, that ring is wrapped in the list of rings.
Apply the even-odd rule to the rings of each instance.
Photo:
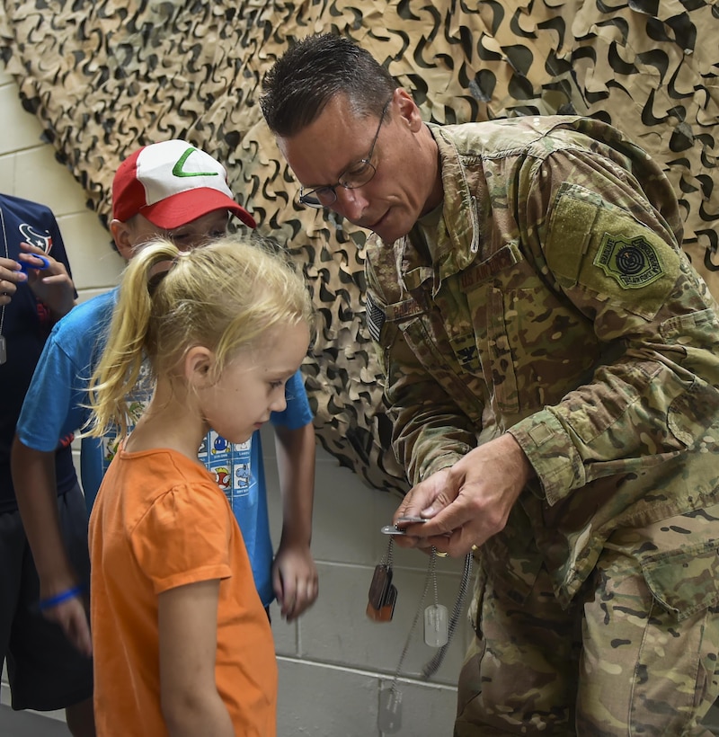
[[[172,737],[235,735],[215,681],[218,595],[214,579],[158,597],[160,699]]]

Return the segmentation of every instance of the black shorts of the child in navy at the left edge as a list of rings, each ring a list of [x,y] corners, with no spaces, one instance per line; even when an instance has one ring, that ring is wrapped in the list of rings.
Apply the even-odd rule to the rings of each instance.
[[[60,526],[80,581],[90,583],[87,511],[78,485],[58,497]],[[0,653],[13,709],[54,711],[93,695],[93,661],[38,608],[40,582],[18,511],[0,514]]]

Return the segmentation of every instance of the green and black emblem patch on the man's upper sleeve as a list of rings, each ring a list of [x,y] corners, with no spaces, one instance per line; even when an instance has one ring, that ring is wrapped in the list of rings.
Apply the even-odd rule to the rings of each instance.
[[[616,280],[622,289],[641,289],[664,273],[659,253],[643,235],[630,238],[605,233],[594,256],[594,265]]]

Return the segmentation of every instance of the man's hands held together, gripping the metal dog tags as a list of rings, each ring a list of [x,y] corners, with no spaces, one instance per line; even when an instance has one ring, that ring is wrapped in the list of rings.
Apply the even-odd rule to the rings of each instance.
[[[407,516],[429,521],[408,525],[406,536],[395,537],[396,544],[466,555],[504,528],[533,474],[528,458],[508,433],[471,450],[407,493],[395,521]]]

